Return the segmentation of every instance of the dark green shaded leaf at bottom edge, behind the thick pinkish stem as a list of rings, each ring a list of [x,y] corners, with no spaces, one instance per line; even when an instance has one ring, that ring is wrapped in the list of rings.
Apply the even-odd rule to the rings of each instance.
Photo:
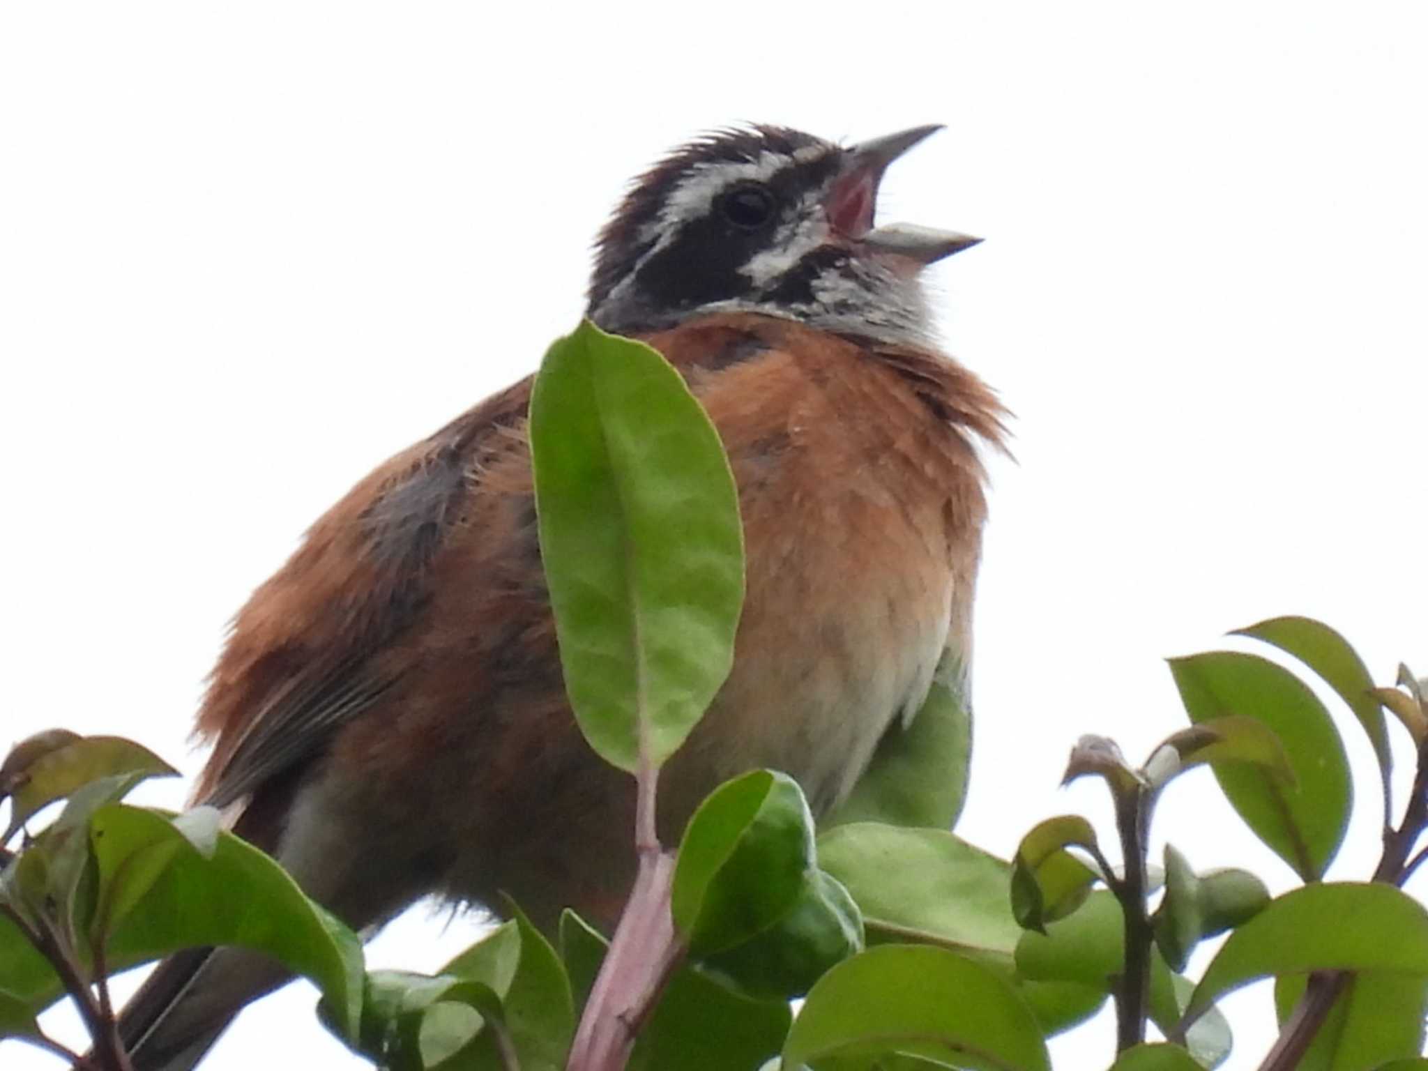
[[[573,911],[560,920],[560,954],[584,1004],[607,941]],[[748,1071],[788,1034],[788,1002],[753,1000],[691,967],[670,980],[635,1040],[628,1071]]]

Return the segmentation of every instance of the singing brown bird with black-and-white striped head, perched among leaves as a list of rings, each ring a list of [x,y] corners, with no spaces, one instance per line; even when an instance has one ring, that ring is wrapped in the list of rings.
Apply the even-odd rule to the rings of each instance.
[[[838,144],[715,130],[637,177],[585,316],[640,338],[717,428],[745,530],[730,675],[660,778],[660,837],[770,767],[815,815],[971,650],[987,448],[1007,413],[935,340],[922,270],[980,238],[877,226],[938,126]],[[531,378],[353,487],[237,613],[197,714],[194,801],[363,932],[416,900],[615,921],[635,784],[565,700],[537,538]],[[137,1071],[194,1067],[287,981],[241,950],[164,960],[120,1020]]]

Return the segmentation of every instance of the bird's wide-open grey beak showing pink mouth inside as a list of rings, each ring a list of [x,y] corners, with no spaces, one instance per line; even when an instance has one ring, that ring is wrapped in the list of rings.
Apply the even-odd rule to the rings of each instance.
[[[843,170],[828,193],[828,220],[834,230],[874,253],[904,257],[915,264],[931,264],[981,241],[970,234],[917,227],[911,223],[873,226],[878,184],[888,164],[941,129],[941,124],[932,123],[845,149]]]

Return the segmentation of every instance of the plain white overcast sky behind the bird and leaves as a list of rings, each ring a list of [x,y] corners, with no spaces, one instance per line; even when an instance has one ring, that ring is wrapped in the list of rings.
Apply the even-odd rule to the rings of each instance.
[[[1057,788],[1068,748],[1142,758],[1184,724],[1164,658],[1227,630],[1309,614],[1382,683],[1428,673],[1428,9],[514,7],[0,6],[0,747],[119,731],[196,771],[253,587],[374,464],[533,371],[625,181],[740,120],[945,123],[880,218],[987,237],[930,273],[948,351],[1017,413],[960,833],[1008,855],[1050,814],[1105,823],[1095,785]],[[1338,877],[1377,860],[1361,784]],[[1291,885],[1208,773],[1157,830]],[[433,968],[473,932],[418,908],[371,958]],[[1231,1068],[1268,1045],[1267,992],[1227,1004],[1259,1021]],[[250,1010],[204,1067],[360,1067],[311,1004]]]

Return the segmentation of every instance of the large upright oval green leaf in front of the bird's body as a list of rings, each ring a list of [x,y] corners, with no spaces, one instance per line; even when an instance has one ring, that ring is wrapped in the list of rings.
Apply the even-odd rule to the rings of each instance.
[[[744,533],[718,434],[658,353],[585,321],[545,354],[530,437],[575,718],[605,761],[658,767],[734,660]]]

